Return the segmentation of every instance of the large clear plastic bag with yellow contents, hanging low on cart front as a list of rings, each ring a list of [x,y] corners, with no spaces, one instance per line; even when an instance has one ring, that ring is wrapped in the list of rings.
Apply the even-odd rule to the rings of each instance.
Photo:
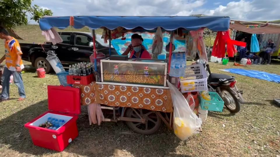
[[[199,130],[202,120],[192,112],[187,100],[181,94],[181,92],[169,81],[167,81],[167,84],[170,89],[174,107],[174,133],[181,140],[187,140],[188,137]]]

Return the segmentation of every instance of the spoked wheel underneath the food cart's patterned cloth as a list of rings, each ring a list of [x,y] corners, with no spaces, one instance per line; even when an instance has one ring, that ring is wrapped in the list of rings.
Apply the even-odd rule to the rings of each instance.
[[[140,133],[143,135],[150,135],[157,132],[160,129],[162,124],[162,120],[160,116],[156,114],[157,111],[144,110],[144,109],[134,109],[143,119],[145,119],[145,123],[141,122],[129,122],[126,121],[126,124],[130,129],[135,131],[136,133]],[[127,108],[126,117],[129,118],[140,118],[132,108]]]

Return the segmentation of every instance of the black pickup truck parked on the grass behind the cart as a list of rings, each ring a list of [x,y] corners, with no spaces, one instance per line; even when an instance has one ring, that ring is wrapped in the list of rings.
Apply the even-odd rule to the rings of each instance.
[[[62,43],[53,45],[50,42],[45,44],[27,44],[20,43],[22,50],[22,59],[32,63],[32,66],[37,68],[43,67],[46,73],[53,69],[46,60],[46,52],[49,50],[55,51],[57,57],[64,66],[69,66],[79,62],[89,62],[90,56],[93,53],[93,43],[91,33],[86,32],[58,32],[62,38]],[[104,43],[101,35],[96,35],[96,49],[98,52],[109,56],[109,44]],[[111,46],[111,55],[118,54],[113,46]]]

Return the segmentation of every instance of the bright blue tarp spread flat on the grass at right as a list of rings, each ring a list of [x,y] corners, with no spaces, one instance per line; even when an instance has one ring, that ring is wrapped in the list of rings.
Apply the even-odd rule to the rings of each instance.
[[[225,71],[228,71],[228,72],[231,72],[234,74],[253,77],[256,79],[262,79],[262,80],[266,80],[266,81],[280,83],[279,75],[270,74],[268,72],[262,72],[262,71],[258,71],[258,70],[245,70],[245,69],[225,69]]]

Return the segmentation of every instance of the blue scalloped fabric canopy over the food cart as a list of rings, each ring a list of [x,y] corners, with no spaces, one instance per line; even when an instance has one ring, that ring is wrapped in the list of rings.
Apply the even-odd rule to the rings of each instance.
[[[53,27],[64,29],[70,25],[70,16],[43,17],[40,19],[39,25],[43,31]],[[230,18],[223,16],[74,16],[74,28],[80,29],[85,26],[91,29],[106,27],[111,30],[118,27],[123,27],[128,30],[137,27],[142,27],[146,30],[162,27],[168,31],[177,28],[185,28],[189,31],[198,30],[199,28],[209,28],[213,31],[227,31],[230,26]]]

